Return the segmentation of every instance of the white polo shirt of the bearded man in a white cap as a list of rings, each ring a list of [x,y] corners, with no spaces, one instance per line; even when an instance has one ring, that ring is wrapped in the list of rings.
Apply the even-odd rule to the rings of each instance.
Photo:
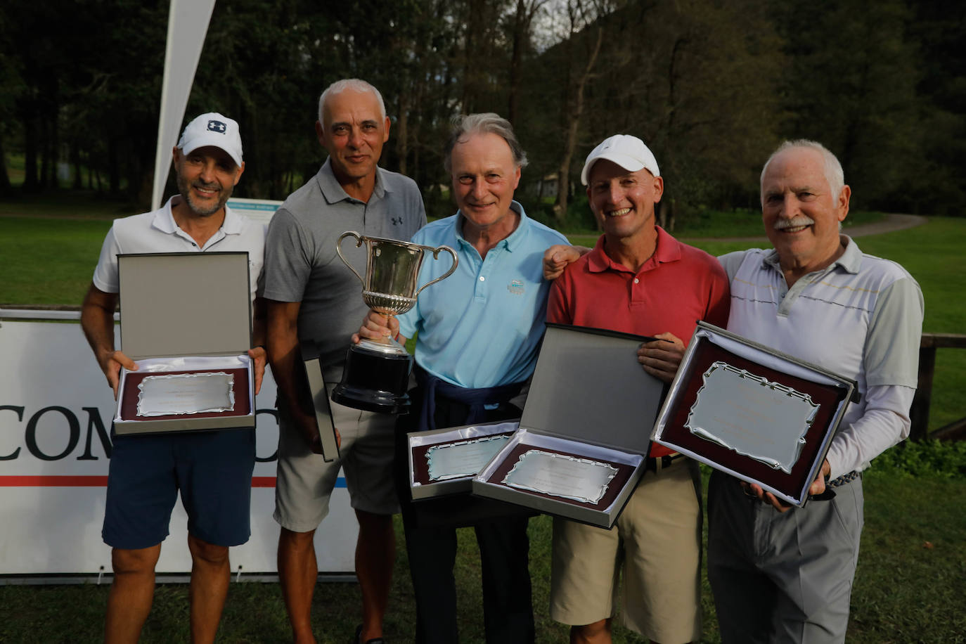
[[[171,207],[181,199],[176,195],[158,210],[116,219],[100,247],[94,286],[104,293],[118,293],[119,254],[245,251],[248,253],[249,287],[254,299],[265,257],[265,227],[226,206],[221,228],[199,248],[190,235],[178,228],[171,214]]]

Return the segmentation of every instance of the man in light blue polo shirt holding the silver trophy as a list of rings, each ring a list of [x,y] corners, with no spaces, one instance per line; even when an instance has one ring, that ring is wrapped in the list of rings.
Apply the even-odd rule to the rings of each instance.
[[[527,218],[513,201],[526,154],[512,126],[496,114],[472,114],[454,128],[444,163],[459,210],[416,233],[412,241],[451,246],[459,266],[427,289],[397,322],[370,313],[359,334],[401,342],[418,333],[418,386],[412,413],[397,425],[400,501],[416,600],[415,641],[459,641],[453,563],[456,527],[472,525],[483,567],[486,640],[532,642],[533,609],[527,570],[528,516],[495,501],[466,496],[412,504],[406,483],[405,433],[520,416],[526,379],[536,366],[550,284],[541,260],[548,246],[567,243]],[[427,262],[419,282],[440,276],[449,263]],[[358,336],[356,336],[357,339]]]

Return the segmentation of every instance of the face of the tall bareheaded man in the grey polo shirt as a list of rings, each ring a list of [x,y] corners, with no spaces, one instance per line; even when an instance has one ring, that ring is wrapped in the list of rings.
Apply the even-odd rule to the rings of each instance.
[[[338,182],[375,177],[376,163],[389,139],[389,119],[381,116],[376,95],[346,89],[326,97],[322,113],[316,133]]]

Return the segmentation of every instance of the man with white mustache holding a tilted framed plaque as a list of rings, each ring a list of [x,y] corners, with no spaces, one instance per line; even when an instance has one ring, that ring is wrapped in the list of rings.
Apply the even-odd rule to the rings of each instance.
[[[909,435],[923,294],[902,266],[838,232],[851,191],[838,159],[789,141],[761,172],[774,249],[721,259],[727,327],[858,382],[804,508],[720,471],[708,488],[708,578],[725,642],[842,642],[863,524],[861,472]]]

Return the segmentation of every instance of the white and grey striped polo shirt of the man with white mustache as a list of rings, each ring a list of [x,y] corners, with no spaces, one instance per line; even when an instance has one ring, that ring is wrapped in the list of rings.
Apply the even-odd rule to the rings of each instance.
[[[727,328],[858,382],[832,441],[831,477],[861,471],[909,435],[923,332],[923,293],[902,266],[845,252],[788,288],[775,250],[719,258],[731,286]]]

